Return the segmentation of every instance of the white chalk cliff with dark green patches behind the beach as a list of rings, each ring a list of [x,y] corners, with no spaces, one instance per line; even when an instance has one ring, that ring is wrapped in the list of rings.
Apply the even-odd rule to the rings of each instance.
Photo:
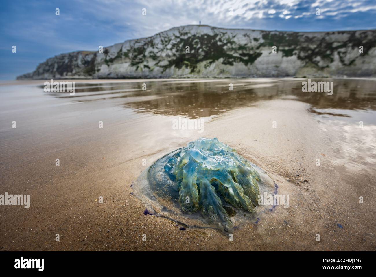
[[[189,25],[118,43],[103,53],[61,54],[17,79],[376,76],[375,61],[376,30],[310,33]]]

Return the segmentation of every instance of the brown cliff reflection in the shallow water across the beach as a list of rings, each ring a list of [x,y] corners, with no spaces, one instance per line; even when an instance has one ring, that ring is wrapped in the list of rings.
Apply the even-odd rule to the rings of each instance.
[[[333,81],[332,95],[302,92],[302,79],[232,79],[203,81],[150,81],[76,84],[76,94],[49,93],[86,102],[124,99],[123,107],[138,113],[189,118],[223,114],[271,99],[295,99],[309,103],[309,111],[325,116],[349,117],[349,111],[376,110],[375,82],[367,79],[326,79]],[[312,81],[315,81],[312,79]],[[229,90],[229,84],[233,90]],[[146,90],[143,90],[146,84]]]

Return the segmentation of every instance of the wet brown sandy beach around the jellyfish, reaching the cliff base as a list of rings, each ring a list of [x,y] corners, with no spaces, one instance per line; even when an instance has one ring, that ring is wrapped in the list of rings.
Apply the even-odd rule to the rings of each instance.
[[[325,80],[333,95],[303,93],[302,81],[76,80],[74,96],[45,93],[42,80],[3,82],[0,194],[30,194],[30,208],[0,206],[0,249],[375,250],[376,81]],[[205,120],[203,132],[173,129],[179,116]],[[132,182],[199,137],[267,170],[289,207],[233,241],[144,215]]]

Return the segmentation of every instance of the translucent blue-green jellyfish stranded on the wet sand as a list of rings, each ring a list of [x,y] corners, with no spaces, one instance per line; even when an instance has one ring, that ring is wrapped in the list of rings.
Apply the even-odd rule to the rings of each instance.
[[[200,138],[164,155],[144,175],[150,190],[141,186],[138,192],[162,204],[159,215],[171,218],[163,213],[176,215],[179,209],[180,215],[200,215],[223,231],[233,227],[237,214],[255,218],[258,195],[277,187],[264,170],[217,138]]]

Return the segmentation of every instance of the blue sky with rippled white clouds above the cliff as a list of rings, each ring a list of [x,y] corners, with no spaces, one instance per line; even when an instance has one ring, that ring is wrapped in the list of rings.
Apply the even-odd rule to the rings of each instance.
[[[376,29],[375,18],[376,0],[5,0],[0,79],[15,79],[60,53],[98,50],[199,20],[228,28],[327,31]]]

